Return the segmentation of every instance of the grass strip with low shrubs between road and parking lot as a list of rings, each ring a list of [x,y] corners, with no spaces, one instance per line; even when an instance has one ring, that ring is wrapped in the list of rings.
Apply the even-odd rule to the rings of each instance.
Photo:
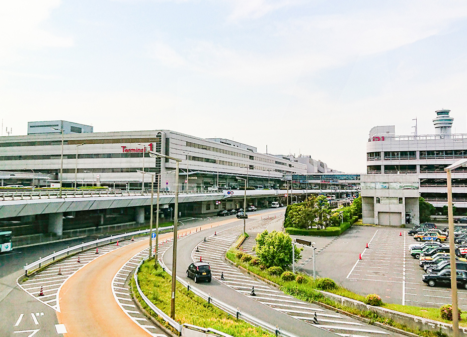
[[[424,337],[442,337],[442,336],[447,336],[441,331],[428,331],[428,330],[415,330],[411,329],[405,325],[399,324],[392,319],[383,317],[381,315],[376,314],[373,311],[362,311],[359,309],[351,308],[345,305],[342,305],[338,302],[335,302],[324,295],[322,295],[319,291],[317,291],[318,283],[320,279],[314,280],[312,277],[310,277],[307,274],[300,274],[303,275],[305,278],[305,281],[303,283],[298,283],[297,281],[284,281],[281,279],[279,276],[275,275],[270,275],[267,273],[266,270],[262,270],[259,266],[254,266],[251,265],[248,262],[243,262],[239,258],[237,258],[236,254],[240,252],[239,250],[236,249],[229,249],[227,251],[226,257],[230,261],[232,261],[234,264],[237,266],[241,266],[244,269],[248,270],[252,274],[255,274],[263,279],[266,279],[268,281],[271,281],[275,284],[277,284],[280,289],[291,296],[294,296],[298,299],[301,299],[306,302],[317,302],[321,304],[325,304],[328,306],[331,306],[333,308],[337,308],[340,310],[343,310],[347,313],[350,313],[355,316],[359,316],[362,318],[366,318],[369,320],[370,324],[372,322],[378,322],[396,329],[404,330],[406,332],[412,333],[412,334],[417,334],[419,336],[424,336]],[[244,253],[243,253],[244,254]],[[321,289],[325,290],[331,293],[334,293],[336,295],[344,296],[347,298],[352,298],[357,301],[365,302],[365,296],[356,294],[344,287],[337,286],[335,289]],[[423,307],[415,307],[415,306],[404,306],[404,305],[398,305],[398,304],[389,304],[389,303],[384,303],[383,306],[384,308],[399,311],[402,313],[414,315],[414,316],[419,316],[439,322],[444,322],[448,324],[452,324],[451,321],[444,320],[440,317],[440,310],[437,308],[423,308]],[[466,313],[463,313],[461,315],[461,319],[466,319]],[[460,322],[461,326],[467,326],[467,322]]]

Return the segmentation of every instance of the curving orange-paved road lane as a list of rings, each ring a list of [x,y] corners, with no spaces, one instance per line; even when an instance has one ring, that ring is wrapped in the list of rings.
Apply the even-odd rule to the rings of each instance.
[[[178,232],[182,235],[194,228],[208,229],[235,221],[238,220],[229,219]],[[172,236],[173,233],[162,234],[159,240]],[[57,318],[65,325],[67,337],[149,336],[122,311],[111,289],[112,279],[119,269],[148,244],[148,240],[144,240],[115,249],[90,262],[65,282],[60,290],[61,312],[57,312]]]

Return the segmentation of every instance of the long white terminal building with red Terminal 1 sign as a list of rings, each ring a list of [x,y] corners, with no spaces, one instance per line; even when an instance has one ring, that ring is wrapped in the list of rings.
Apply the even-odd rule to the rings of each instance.
[[[92,126],[67,121],[29,122],[28,135],[0,138],[0,171],[23,172],[23,185],[57,183],[62,165],[63,186],[102,185],[121,189],[151,187],[151,176],[161,174],[161,189],[174,189],[175,162],[152,158],[149,151],[180,162],[181,190],[216,187],[279,188],[284,175],[306,174],[307,165],[286,156],[257,152],[253,146],[228,139],[203,139],[171,130],[93,132]],[[38,180],[48,175],[50,179]],[[31,177],[32,176],[32,177]],[[2,174],[1,185],[12,182]],[[33,180],[34,179],[34,183]],[[155,185],[156,186],[156,185]]]

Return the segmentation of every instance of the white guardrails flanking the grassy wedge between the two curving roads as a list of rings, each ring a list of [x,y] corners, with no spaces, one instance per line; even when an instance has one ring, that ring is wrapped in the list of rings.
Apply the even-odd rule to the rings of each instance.
[[[136,271],[138,271],[138,269],[139,269],[140,266],[143,264],[143,262],[144,262],[144,260],[141,261],[140,265],[138,265]],[[167,269],[167,266],[165,266],[164,262],[163,262],[161,259],[159,259],[158,262],[159,262],[159,265],[160,265],[169,275],[172,275],[171,270]],[[137,286],[138,286],[138,291],[140,292],[141,297],[145,300],[146,304],[148,304],[148,305],[151,307],[151,309],[153,309],[152,306],[154,306],[154,307],[156,307],[156,306],[155,306],[146,296],[143,297],[144,294],[142,294],[142,291],[141,291],[141,289],[140,289],[140,287],[139,287],[139,285],[138,285],[137,272],[135,272],[134,277],[135,277],[135,281],[136,281],[136,284],[137,284]],[[197,295],[197,296],[199,296],[199,297],[205,299],[206,301],[208,301],[208,303],[211,303],[211,304],[215,305],[216,307],[222,309],[223,311],[225,311],[225,312],[227,312],[227,313],[229,313],[229,314],[235,316],[237,319],[240,319],[240,318],[241,318],[243,321],[248,322],[248,323],[250,323],[250,324],[252,324],[252,325],[255,325],[255,326],[257,326],[257,327],[260,327],[260,328],[262,328],[262,329],[264,329],[264,330],[266,330],[266,331],[269,331],[269,332],[275,334],[276,336],[297,337],[296,335],[293,335],[293,334],[291,334],[291,333],[289,333],[289,332],[287,332],[287,331],[283,331],[283,330],[279,329],[277,326],[273,326],[273,325],[271,325],[271,324],[269,324],[269,323],[266,323],[266,322],[264,322],[264,321],[262,321],[262,320],[260,320],[260,319],[258,319],[258,318],[256,318],[256,317],[252,316],[252,315],[249,315],[249,314],[247,314],[247,313],[241,312],[241,310],[240,310],[239,308],[234,308],[233,306],[231,306],[231,305],[229,305],[229,304],[227,304],[227,303],[224,303],[224,302],[221,301],[221,300],[218,300],[218,299],[212,297],[210,294],[207,294],[206,292],[204,292],[204,291],[202,291],[202,290],[200,290],[200,289],[198,289],[198,288],[196,288],[196,287],[191,286],[190,283],[188,283],[187,281],[185,281],[185,280],[183,280],[183,279],[181,279],[181,278],[179,278],[179,277],[177,277],[176,279],[177,279],[177,281],[179,281],[181,284],[183,284],[183,286],[185,286],[185,287],[188,289],[188,291],[191,290],[195,295]],[[153,309],[153,310],[154,310],[154,309]],[[159,309],[157,309],[157,310],[159,310]],[[160,311],[160,310],[159,310],[159,311]],[[157,311],[155,310],[155,312],[157,312]],[[162,314],[163,314],[163,315],[160,315],[160,316],[161,316],[164,320],[165,320],[164,317],[167,317],[168,320],[166,320],[166,322],[169,323],[172,327],[174,327],[175,329],[177,329],[176,326],[179,326],[179,328],[181,329],[181,325],[180,325],[179,323],[175,322],[173,319],[171,319],[170,317],[168,317],[165,313],[162,313]],[[180,332],[181,332],[181,330],[177,330],[177,331],[180,331]]]

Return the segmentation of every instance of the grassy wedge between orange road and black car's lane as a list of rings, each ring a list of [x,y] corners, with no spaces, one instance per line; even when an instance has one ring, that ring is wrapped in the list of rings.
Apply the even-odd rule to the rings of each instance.
[[[138,271],[138,282],[143,293],[164,313],[170,315],[171,277],[158,266],[154,268],[154,260],[147,260]],[[138,294],[135,280],[132,278],[131,287],[140,304],[157,321],[169,327],[157,314],[152,311]],[[234,337],[272,337],[261,328],[255,327],[242,320],[237,320],[218,307],[208,304],[177,282],[175,300],[175,318],[181,324],[193,324],[203,328],[213,328]],[[171,328],[171,327],[170,327]],[[170,329],[174,331],[173,329]],[[174,331],[174,333],[176,333]]]

